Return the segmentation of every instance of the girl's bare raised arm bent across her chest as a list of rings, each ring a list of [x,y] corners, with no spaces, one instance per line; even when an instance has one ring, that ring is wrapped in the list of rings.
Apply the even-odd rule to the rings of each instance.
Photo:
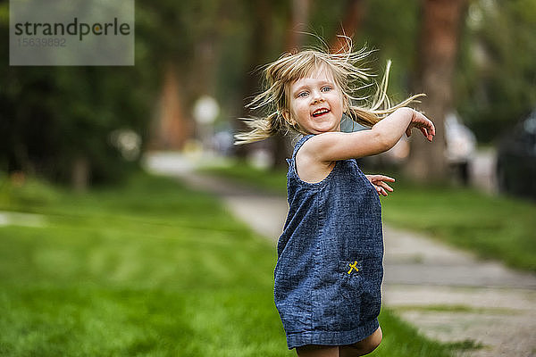
[[[399,108],[370,130],[353,133],[327,132],[307,140],[301,154],[314,162],[335,162],[380,154],[395,144],[413,128],[420,129],[423,136],[432,141],[435,127],[423,113],[411,108]]]

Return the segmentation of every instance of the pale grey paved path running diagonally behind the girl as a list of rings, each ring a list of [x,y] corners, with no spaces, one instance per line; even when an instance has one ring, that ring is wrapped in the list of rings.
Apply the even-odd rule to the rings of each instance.
[[[273,240],[287,214],[286,199],[194,172],[177,155],[153,154],[149,170],[179,177],[219,195],[236,217]],[[536,276],[482,262],[430,237],[384,227],[383,303],[444,342],[473,342],[473,357],[536,356]]]

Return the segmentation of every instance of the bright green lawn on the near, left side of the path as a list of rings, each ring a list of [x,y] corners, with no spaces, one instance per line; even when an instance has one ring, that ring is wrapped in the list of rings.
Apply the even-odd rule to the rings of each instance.
[[[83,195],[0,177],[0,211],[38,214],[0,225],[0,355],[295,355],[272,302],[274,247],[210,195],[145,174]],[[388,310],[381,325],[373,356],[459,347]]]

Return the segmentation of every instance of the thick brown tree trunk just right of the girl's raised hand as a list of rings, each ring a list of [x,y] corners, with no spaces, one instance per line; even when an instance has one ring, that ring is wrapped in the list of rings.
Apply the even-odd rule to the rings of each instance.
[[[422,109],[436,127],[434,143],[415,131],[406,169],[416,180],[440,180],[447,174],[445,115],[452,107],[453,74],[467,0],[423,0],[414,88],[428,95]]]

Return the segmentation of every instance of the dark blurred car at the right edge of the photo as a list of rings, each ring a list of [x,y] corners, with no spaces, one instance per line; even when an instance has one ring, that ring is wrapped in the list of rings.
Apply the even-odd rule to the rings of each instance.
[[[497,180],[500,192],[536,199],[536,109],[500,140]]]

